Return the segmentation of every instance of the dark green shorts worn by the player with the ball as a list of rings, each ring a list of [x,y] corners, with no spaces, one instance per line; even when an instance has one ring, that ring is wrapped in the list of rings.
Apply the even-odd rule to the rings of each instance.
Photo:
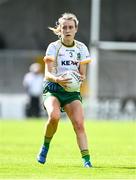
[[[58,84],[55,84],[55,85],[59,86]],[[45,101],[50,96],[55,96],[59,100],[60,106],[62,108],[66,104],[69,104],[74,100],[79,100],[82,102],[82,97],[80,95],[80,92],[67,92],[63,88],[58,89],[57,91],[52,91],[52,90],[47,89],[47,87],[45,90],[45,87],[44,87],[44,89],[43,89],[43,101]]]

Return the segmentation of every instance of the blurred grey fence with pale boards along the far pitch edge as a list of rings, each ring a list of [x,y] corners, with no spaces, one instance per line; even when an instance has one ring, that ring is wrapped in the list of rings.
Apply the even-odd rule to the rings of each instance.
[[[29,65],[40,61],[42,51],[0,52],[0,117],[23,118],[27,102],[22,86]],[[97,118],[135,119],[136,52],[99,49],[98,104],[91,104],[85,93],[83,105],[88,117],[95,106]],[[87,88],[88,89],[88,88]]]

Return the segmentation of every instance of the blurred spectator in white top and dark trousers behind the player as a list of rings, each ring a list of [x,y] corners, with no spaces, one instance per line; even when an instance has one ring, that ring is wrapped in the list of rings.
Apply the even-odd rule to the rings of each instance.
[[[23,86],[29,96],[29,103],[26,106],[27,117],[40,117],[41,106],[40,97],[42,93],[43,74],[41,72],[41,64],[34,63],[24,76]]]

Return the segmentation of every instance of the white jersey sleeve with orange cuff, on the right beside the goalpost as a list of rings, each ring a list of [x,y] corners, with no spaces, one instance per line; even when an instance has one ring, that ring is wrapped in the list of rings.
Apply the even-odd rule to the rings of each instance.
[[[81,49],[81,61],[80,64],[87,64],[91,62],[91,57],[88,48],[85,44],[82,45]]]

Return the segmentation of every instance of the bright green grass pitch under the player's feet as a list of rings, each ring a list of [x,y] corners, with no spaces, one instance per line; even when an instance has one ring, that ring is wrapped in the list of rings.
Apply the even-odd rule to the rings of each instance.
[[[47,163],[36,155],[45,121],[0,120],[0,180],[136,179],[136,122],[85,122],[93,168],[83,168],[70,121],[60,121]]]

